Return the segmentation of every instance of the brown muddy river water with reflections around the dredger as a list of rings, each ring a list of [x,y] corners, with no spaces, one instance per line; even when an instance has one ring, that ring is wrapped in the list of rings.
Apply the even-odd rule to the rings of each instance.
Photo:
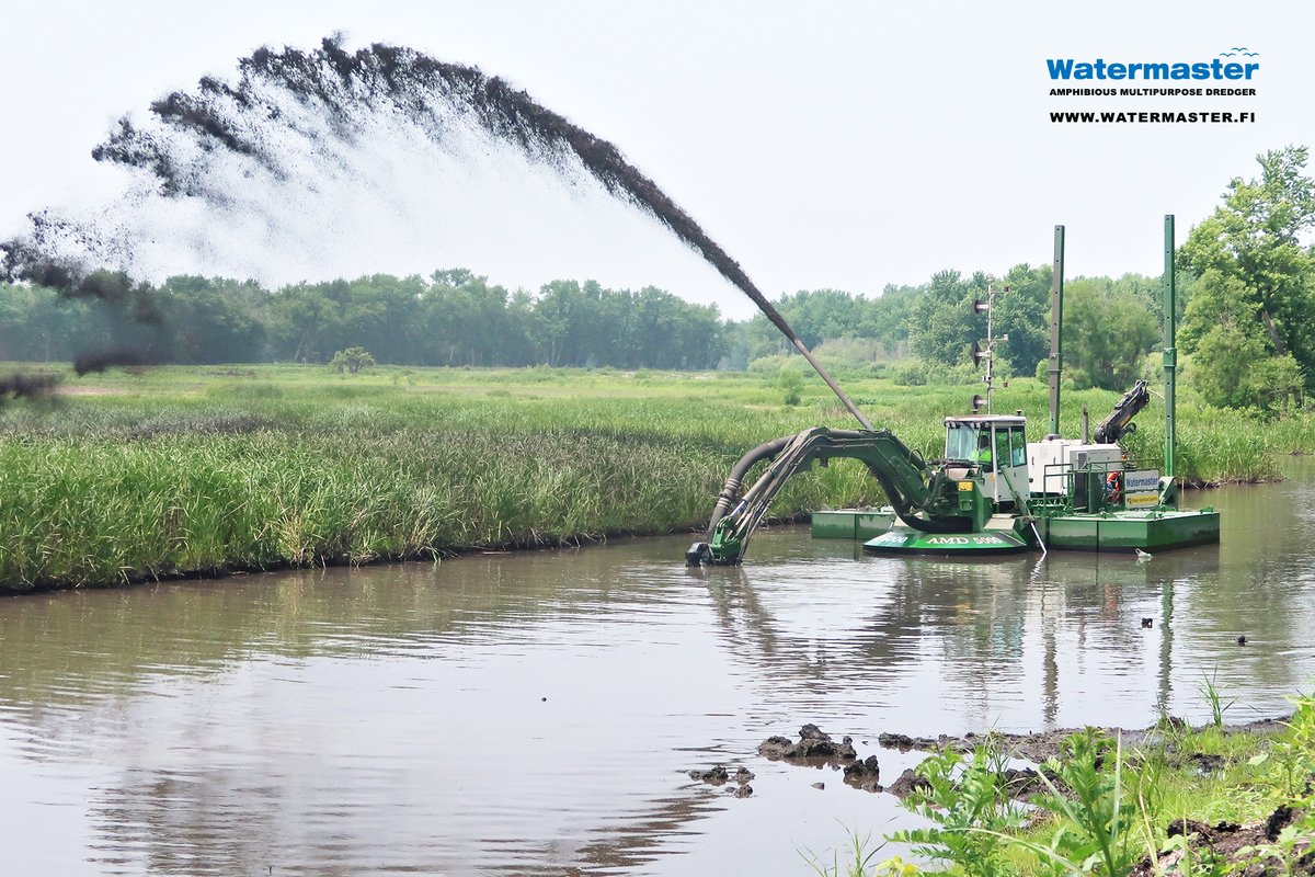
[[[911,823],[755,755],[803,722],[890,782],[918,756],[880,731],[1203,721],[1206,676],[1230,719],[1282,713],[1315,673],[1293,473],[1193,497],[1223,547],[1148,563],[784,529],[742,569],[673,538],[7,598],[0,873],[811,873],[801,851]],[[755,794],[685,774],[718,763]]]

